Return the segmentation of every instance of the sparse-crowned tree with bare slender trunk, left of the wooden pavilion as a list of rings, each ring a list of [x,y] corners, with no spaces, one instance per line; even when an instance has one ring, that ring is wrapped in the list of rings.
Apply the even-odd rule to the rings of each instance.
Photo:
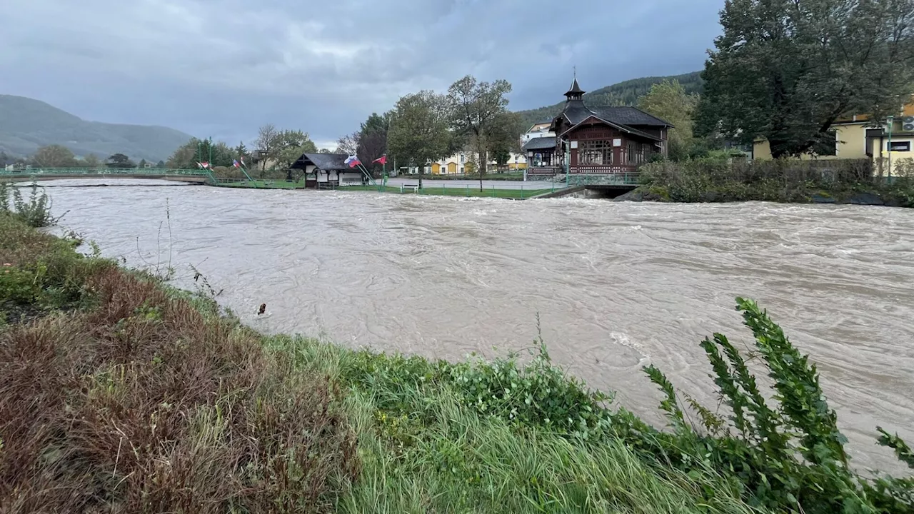
[[[451,113],[452,127],[459,134],[469,136],[479,163],[479,190],[483,190],[483,177],[488,153],[492,150],[494,129],[503,127],[500,120],[507,113],[507,93],[511,92],[511,83],[507,80],[480,82],[467,75],[457,80],[448,90],[448,110]]]

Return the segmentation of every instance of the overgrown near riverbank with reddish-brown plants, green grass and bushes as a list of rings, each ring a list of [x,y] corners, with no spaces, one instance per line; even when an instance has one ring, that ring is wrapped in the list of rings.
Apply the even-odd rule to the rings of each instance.
[[[0,215],[0,233],[0,505],[196,512],[911,507],[910,484],[873,483],[847,470],[814,371],[750,303],[741,309],[764,336],[760,350],[776,363],[774,377],[785,380],[778,393],[786,402],[762,410],[754,380],[718,341],[710,347],[736,364],[724,375],[733,383],[718,386],[745,414],[725,422],[698,409],[706,426],[693,429],[672,385],[650,369],[674,429],[664,433],[607,409],[607,398],[552,365],[541,341],[526,364],[449,363],[267,337],[220,313],[206,288],[188,294],[97,255],[82,257],[79,241],[41,234],[9,215]],[[793,449],[801,442],[812,453]]]

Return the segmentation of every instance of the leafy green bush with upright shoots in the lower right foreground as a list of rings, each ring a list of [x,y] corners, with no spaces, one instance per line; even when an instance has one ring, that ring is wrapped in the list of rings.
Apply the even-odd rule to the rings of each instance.
[[[714,469],[736,477],[750,503],[771,509],[802,512],[911,512],[914,480],[860,477],[848,466],[846,438],[837,414],[825,401],[819,375],[809,356],[802,355],[765,311],[739,298],[737,309],[752,330],[759,356],[773,381],[773,400],[766,402],[746,360],[721,334],[701,346],[714,370],[721,400],[731,414],[727,422],[691,399],[706,434],[685,423],[675,391],[658,369],[645,371],[664,391],[661,408],[674,434],[632,439],[644,453],[687,470]],[[624,426],[624,423],[622,423]],[[896,449],[909,465],[914,455],[907,444],[882,429],[880,443]]]

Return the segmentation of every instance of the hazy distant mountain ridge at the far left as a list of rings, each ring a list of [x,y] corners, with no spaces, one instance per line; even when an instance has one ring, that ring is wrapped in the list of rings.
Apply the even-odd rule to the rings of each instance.
[[[190,139],[181,131],[153,126],[87,122],[46,102],[0,94],[0,151],[27,156],[39,146],[64,145],[76,155],[129,155],[165,160]]]

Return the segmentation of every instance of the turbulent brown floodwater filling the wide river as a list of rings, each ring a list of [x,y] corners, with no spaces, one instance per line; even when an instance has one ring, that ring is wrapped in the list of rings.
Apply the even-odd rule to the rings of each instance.
[[[462,359],[530,348],[538,313],[553,359],[652,423],[641,368],[714,406],[698,342],[750,345],[750,297],[818,364],[856,466],[901,469],[876,425],[914,440],[914,209],[68,184],[61,229],[196,267],[252,327]]]

